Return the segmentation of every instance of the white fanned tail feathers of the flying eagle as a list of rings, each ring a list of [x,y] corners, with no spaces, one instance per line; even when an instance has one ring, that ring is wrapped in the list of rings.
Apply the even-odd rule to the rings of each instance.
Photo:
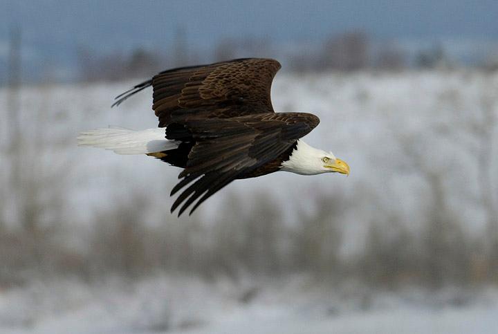
[[[165,128],[134,131],[121,127],[84,131],[77,137],[78,146],[110,149],[117,154],[148,154],[176,149],[178,143],[165,138]]]

